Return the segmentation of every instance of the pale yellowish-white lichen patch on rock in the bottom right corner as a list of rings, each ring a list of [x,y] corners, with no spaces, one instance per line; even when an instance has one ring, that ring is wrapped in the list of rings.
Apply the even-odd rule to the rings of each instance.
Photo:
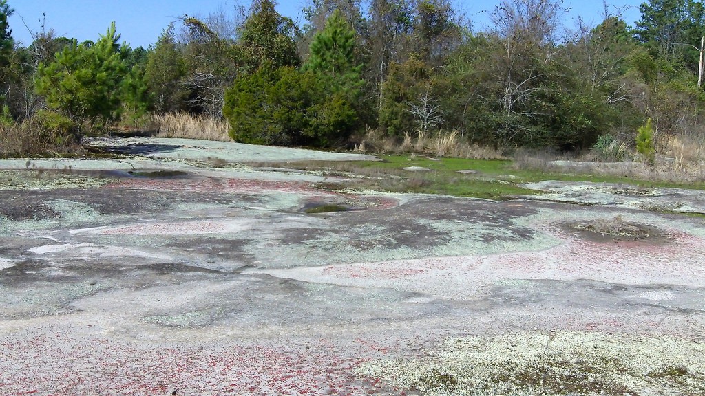
[[[668,336],[561,331],[448,340],[357,370],[424,395],[703,395],[705,345]]]

